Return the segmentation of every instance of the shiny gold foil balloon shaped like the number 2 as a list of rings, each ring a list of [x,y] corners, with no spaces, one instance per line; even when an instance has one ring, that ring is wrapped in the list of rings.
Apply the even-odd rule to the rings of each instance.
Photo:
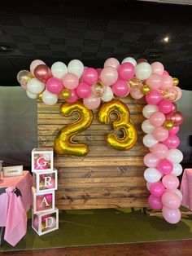
[[[88,146],[85,143],[74,142],[72,138],[91,125],[94,117],[93,112],[85,108],[81,102],[76,102],[62,104],[60,113],[65,117],[69,117],[73,113],[78,113],[79,118],[71,125],[59,130],[55,137],[55,152],[60,155],[85,156],[89,152]]]

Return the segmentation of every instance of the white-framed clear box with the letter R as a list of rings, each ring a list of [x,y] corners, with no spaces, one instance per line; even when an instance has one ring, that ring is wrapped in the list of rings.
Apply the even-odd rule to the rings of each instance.
[[[33,187],[37,192],[48,192],[58,187],[58,172],[56,169],[50,171],[33,172]]]

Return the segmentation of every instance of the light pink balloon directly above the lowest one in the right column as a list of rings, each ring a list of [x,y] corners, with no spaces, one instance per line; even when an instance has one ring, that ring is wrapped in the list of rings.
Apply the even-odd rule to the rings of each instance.
[[[169,209],[177,209],[181,205],[180,197],[174,192],[165,192],[161,201]]]

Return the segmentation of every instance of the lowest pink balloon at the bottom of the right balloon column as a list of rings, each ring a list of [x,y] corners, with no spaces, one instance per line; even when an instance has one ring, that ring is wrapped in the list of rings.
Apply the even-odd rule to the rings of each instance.
[[[179,209],[169,209],[164,206],[162,208],[162,214],[164,219],[171,224],[176,224],[181,219],[181,211]]]

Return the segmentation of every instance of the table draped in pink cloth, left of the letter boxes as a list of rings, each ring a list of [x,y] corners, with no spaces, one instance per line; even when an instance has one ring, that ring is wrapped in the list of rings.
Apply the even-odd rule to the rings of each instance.
[[[27,232],[27,211],[32,205],[32,175],[0,179],[0,227],[4,240],[15,246]],[[1,232],[2,233],[2,232]]]

